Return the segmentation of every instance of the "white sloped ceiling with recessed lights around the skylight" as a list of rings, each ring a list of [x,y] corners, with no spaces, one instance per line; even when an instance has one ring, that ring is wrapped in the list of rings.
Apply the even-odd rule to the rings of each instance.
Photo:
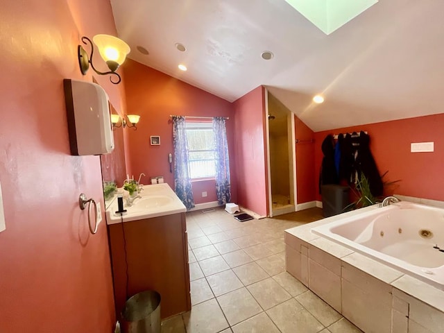
[[[314,131],[444,112],[443,0],[379,0],[331,35],[284,0],[111,4],[129,58],[228,101],[265,85]]]

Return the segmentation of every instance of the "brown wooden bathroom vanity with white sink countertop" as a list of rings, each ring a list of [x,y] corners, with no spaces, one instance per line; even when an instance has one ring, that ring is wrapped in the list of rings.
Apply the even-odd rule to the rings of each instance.
[[[191,309],[185,205],[167,184],[145,185],[141,198],[106,210],[117,314],[130,296],[155,290],[161,318]]]

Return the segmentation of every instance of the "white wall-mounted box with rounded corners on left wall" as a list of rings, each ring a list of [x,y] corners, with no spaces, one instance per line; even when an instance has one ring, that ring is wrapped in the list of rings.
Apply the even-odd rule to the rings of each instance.
[[[101,155],[114,149],[108,95],[100,85],[63,80],[72,155]]]

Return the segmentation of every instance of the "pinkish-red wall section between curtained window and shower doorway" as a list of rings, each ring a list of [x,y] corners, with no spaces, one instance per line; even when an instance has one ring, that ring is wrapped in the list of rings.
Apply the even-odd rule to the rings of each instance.
[[[234,101],[239,205],[268,215],[264,87]]]

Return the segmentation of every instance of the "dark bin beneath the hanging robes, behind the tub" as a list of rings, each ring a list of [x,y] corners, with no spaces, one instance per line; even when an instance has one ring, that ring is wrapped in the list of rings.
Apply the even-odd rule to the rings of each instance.
[[[322,185],[322,207],[324,217],[341,214],[348,205],[349,187],[341,185]]]

